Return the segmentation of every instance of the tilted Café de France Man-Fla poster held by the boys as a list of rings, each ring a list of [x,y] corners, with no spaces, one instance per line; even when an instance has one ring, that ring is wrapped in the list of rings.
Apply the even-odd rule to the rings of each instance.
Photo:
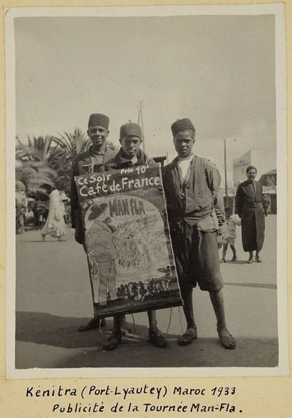
[[[160,165],[75,177],[95,315],[182,305]]]

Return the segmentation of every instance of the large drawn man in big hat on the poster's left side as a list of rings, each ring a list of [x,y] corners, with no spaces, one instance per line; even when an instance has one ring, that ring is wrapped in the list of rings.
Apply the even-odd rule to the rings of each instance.
[[[107,208],[106,203],[94,204],[90,207],[88,220],[94,222],[85,238],[85,245],[93,251],[95,262],[99,267],[98,303],[100,305],[106,305],[108,294],[110,300],[118,297],[115,286],[115,259],[118,258],[118,252],[113,241],[113,234],[117,228],[110,225],[111,218],[99,219]]]

